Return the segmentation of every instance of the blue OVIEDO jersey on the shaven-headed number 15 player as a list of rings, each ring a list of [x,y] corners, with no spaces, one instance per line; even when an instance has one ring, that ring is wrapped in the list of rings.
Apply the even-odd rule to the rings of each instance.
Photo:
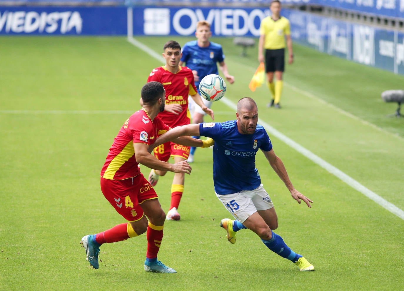
[[[217,194],[225,195],[254,190],[261,184],[255,167],[259,149],[270,151],[271,140],[263,126],[257,124],[254,134],[240,134],[236,120],[202,123],[200,135],[213,138],[213,183]]]

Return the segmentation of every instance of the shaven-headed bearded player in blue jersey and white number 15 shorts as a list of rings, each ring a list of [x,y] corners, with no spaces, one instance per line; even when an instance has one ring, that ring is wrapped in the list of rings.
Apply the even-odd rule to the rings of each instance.
[[[156,140],[162,144],[183,135],[201,135],[213,138],[213,182],[221,203],[236,218],[222,219],[220,225],[227,231],[230,243],[236,243],[236,233],[242,228],[255,232],[271,251],[295,263],[301,271],[314,271],[302,255],[292,251],[282,237],[274,233],[278,217],[268,193],[261,184],[255,167],[255,155],[260,149],[292,198],[308,207],[313,203],[293,187],[282,160],[274,153],[265,129],[258,125],[257,104],[252,98],[237,103],[236,120],[223,123],[201,123],[178,126]]]

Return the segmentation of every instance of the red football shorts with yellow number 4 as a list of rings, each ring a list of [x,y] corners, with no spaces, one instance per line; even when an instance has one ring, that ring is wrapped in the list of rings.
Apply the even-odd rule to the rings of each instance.
[[[124,180],[101,177],[101,191],[115,210],[128,221],[142,218],[143,209],[139,204],[145,200],[158,198],[156,191],[143,174]]]

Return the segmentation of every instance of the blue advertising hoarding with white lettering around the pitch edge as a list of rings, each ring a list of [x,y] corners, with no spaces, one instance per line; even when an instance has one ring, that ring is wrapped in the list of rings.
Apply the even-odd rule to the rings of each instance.
[[[207,20],[214,36],[259,37],[265,8],[184,8],[173,6],[0,6],[0,35],[127,35],[133,11],[133,35],[190,36]],[[357,63],[404,75],[404,33],[282,9],[292,39]]]

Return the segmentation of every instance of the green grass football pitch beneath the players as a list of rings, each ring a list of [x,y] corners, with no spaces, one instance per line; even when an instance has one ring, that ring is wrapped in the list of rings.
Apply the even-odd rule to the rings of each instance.
[[[169,39],[137,40],[160,54]],[[254,98],[261,121],[404,209],[404,118],[389,117],[396,105],[380,97],[402,89],[403,76],[294,44],[283,108],[267,109],[265,85],[248,89],[257,48],[240,57],[231,38],[213,41],[236,78],[227,99]],[[120,126],[140,108],[147,75],[162,62],[121,37],[1,37],[0,52],[1,290],[403,288],[404,221],[271,134],[294,186],[314,201],[311,209],[296,203],[257,155],[278,214],[276,233],[315,272],[299,272],[250,230],[238,233],[236,245],[227,242],[219,223],[230,215],[213,192],[210,149],[196,151],[181,221],[164,227],[159,260],[177,274],[143,270],[144,234],[103,245],[100,268],[89,268],[81,237],[124,222],[103,197],[99,172]],[[224,102],[213,110],[215,121],[235,118]],[[165,211],[172,177],[155,187]]]

